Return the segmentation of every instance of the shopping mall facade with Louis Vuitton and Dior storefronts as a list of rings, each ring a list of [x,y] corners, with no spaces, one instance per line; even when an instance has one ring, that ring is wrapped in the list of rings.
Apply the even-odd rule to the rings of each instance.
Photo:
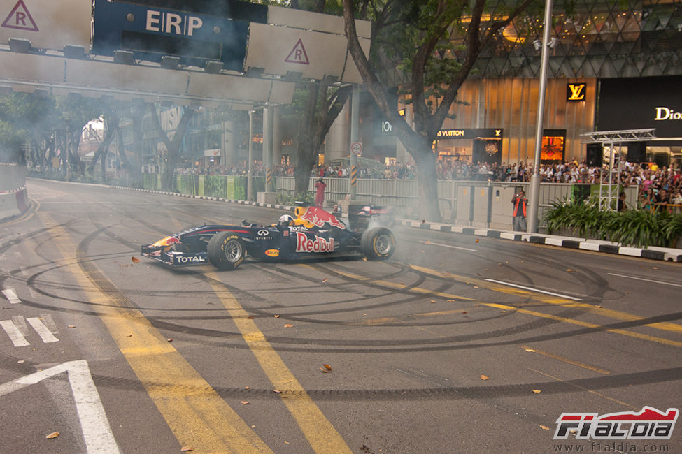
[[[656,139],[630,145],[628,158],[681,166],[682,1],[576,1],[571,15],[563,3],[553,11],[542,161],[594,162],[583,133],[653,128]],[[450,111],[455,118],[446,119],[434,143],[439,159],[532,161],[541,22],[520,18],[483,50]],[[362,97],[362,156],[408,162],[392,125],[369,94]],[[397,109],[410,122],[411,105]],[[348,156],[349,117],[344,110],[329,131],[325,161]]]

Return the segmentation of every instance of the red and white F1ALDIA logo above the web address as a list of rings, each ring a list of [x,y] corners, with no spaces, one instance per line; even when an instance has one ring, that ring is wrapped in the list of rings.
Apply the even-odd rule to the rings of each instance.
[[[576,439],[583,440],[669,440],[679,413],[679,409],[664,412],[653,407],[642,407],[638,413],[624,411],[602,416],[561,413],[554,439],[567,439],[574,432]]]

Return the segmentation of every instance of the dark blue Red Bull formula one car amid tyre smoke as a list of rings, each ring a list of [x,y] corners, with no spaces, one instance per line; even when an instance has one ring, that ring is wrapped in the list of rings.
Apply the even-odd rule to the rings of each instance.
[[[277,224],[192,227],[142,247],[142,255],[168,265],[206,263],[234,270],[246,258],[292,261],[301,258],[366,256],[384,260],[395,251],[388,209],[350,205],[339,219],[317,207],[297,206]]]

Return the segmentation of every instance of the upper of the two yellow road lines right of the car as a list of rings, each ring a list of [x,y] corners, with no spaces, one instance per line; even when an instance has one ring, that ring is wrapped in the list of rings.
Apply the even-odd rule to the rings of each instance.
[[[448,279],[453,279],[453,281],[465,282],[467,284],[475,284],[477,286],[488,288],[489,290],[492,290],[492,291],[507,293],[509,295],[523,295],[523,296],[526,296],[529,298],[533,298],[534,300],[538,300],[541,302],[547,302],[547,303],[552,304],[552,305],[559,305],[559,306],[563,306],[563,307],[575,307],[578,309],[587,309],[592,314],[597,314],[599,316],[604,316],[606,318],[613,318],[615,320],[641,321],[644,319],[640,316],[637,316],[634,314],[629,314],[627,312],[616,311],[613,309],[606,309],[604,307],[596,307],[595,305],[588,305],[584,302],[574,302],[571,300],[566,300],[564,298],[552,298],[548,295],[543,295],[542,293],[534,293],[532,291],[526,291],[526,290],[522,290],[520,288],[508,287],[508,286],[504,286],[502,284],[494,284],[494,283],[489,282],[489,281],[484,281],[483,279],[475,279],[475,278],[459,276],[457,274],[439,272],[436,270],[430,270],[429,268],[423,268],[423,267],[415,266],[415,265],[411,265],[411,268],[413,268],[414,270],[420,271],[420,272],[425,272],[427,274],[436,275],[438,277],[445,277]],[[649,328],[654,328],[657,330],[672,331],[672,332],[677,332],[679,334],[682,334],[682,325],[679,325],[677,323],[657,322],[657,323],[647,323],[644,326],[648,326]]]

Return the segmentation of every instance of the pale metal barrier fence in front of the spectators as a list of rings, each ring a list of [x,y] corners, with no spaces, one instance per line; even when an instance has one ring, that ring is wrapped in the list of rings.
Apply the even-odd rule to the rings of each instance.
[[[315,191],[316,177],[308,182],[308,191]],[[349,178],[323,178],[327,184],[325,200],[336,203],[347,200],[350,194]],[[253,177],[254,195],[264,190],[264,177]],[[159,189],[160,180],[155,174],[144,175],[145,189]],[[197,196],[213,196],[236,200],[246,199],[246,177],[225,175],[176,175],[174,190]],[[525,182],[485,182],[439,180],[436,182],[438,204],[443,219],[460,225],[490,228],[511,228],[511,198],[518,191],[528,193]],[[420,197],[417,180],[369,179],[357,180],[356,200],[369,205],[390,205],[397,215],[415,216],[419,212]],[[279,194],[294,195],[294,177],[275,177],[275,190]],[[623,189],[626,201],[637,205],[637,186]],[[538,219],[540,226],[545,212],[553,202],[570,198],[585,199],[599,193],[599,185],[541,183]]]

